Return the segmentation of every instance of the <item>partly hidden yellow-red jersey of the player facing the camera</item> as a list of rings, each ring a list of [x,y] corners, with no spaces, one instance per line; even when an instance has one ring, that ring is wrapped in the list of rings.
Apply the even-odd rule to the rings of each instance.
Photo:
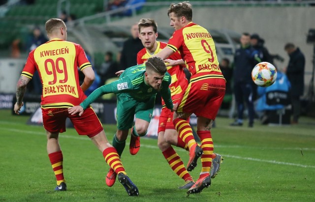
[[[158,54],[163,48],[166,47],[166,43],[159,42],[157,50],[153,55]],[[146,48],[141,49],[138,54],[137,54],[137,63],[142,64],[145,61],[147,61],[148,58],[151,58],[153,55],[151,55]],[[172,54],[168,59],[173,59],[173,60],[178,60],[182,59],[181,55],[179,54],[178,51],[176,53]],[[172,66],[172,67],[167,67],[167,72],[171,75],[172,77],[172,82],[169,85],[169,88],[171,90],[171,96],[172,96],[172,101],[173,103],[176,103],[183,94],[185,93],[186,88],[188,87],[188,80],[186,79],[186,75],[184,72],[184,67],[180,65]],[[165,102],[162,99],[162,106],[165,106]]]

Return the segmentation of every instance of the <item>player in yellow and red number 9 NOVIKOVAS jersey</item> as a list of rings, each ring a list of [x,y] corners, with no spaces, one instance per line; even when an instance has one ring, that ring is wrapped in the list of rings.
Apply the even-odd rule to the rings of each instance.
[[[171,20],[170,26],[175,31],[167,46],[157,56],[165,59],[180,51],[191,73],[189,87],[174,113],[173,123],[179,136],[189,146],[187,170],[194,169],[197,159],[201,157],[201,173],[188,190],[188,194],[199,193],[211,184],[210,169],[214,146],[210,129],[225,94],[225,79],[219,67],[211,34],[192,22],[191,4],[188,1],[172,3],[168,16]],[[178,63],[182,62],[178,60]],[[197,115],[197,134],[201,140],[201,148],[196,144],[187,121],[192,113]]]

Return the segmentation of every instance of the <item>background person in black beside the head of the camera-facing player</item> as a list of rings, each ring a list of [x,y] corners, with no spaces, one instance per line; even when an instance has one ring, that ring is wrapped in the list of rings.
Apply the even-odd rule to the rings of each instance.
[[[121,69],[126,69],[137,64],[137,53],[143,49],[141,40],[139,39],[138,24],[135,23],[130,29],[131,38],[124,42],[122,55],[120,59]]]

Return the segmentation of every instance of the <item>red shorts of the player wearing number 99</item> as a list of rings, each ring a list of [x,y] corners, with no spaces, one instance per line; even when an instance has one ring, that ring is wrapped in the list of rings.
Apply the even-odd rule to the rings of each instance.
[[[65,132],[65,119],[70,118],[75,130],[79,135],[94,137],[103,130],[94,110],[87,108],[82,116],[70,115],[67,108],[42,108],[44,128],[50,133]]]

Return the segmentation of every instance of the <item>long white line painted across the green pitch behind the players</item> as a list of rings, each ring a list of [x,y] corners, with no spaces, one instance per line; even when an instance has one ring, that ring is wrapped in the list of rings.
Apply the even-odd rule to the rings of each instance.
[[[19,129],[13,129],[13,128],[2,128],[2,130],[7,130],[7,131],[11,131],[11,132],[17,132],[19,134],[27,133],[27,134],[33,134],[33,135],[46,136],[45,132],[34,132],[34,131],[19,130]],[[90,141],[90,139],[87,136],[69,136],[69,135],[61,134],[60,137],[61,138],[68,138],[68,139]],[[154,145],[141,144],[141,146],[146,147],[146,148],[159,149],[158,146],[154,146]],[[221,146],[221,147],[224,147],[224,146]],[[242,147],[242,146],[239,146],[239,147]],[[300,149],[300,148],[298,148],[298,149]],[[306,150],[306,149],[304,148],[304,150]],[[178,150],[178,151],[187,152],[184,149]],[[229,154],[222,154],[222,156],[228,157],[228,158],[243,159],[243,160],[248,160],[248,161],[257,161],[257,162],[265,162],[265,163],[271,163],[271,164],[289,165],[289,166],[297,166],[297,167],[302,167],[302,168],[313,168],[313,169],[315,169],[315,166],[287,163],[287,162],[281,162],[281,161],[275,161],[275,160],[264,160],[264,159],[257,159],[257,158],[251,158],[251,157],[234,156],[234,155],[229,155]]]

